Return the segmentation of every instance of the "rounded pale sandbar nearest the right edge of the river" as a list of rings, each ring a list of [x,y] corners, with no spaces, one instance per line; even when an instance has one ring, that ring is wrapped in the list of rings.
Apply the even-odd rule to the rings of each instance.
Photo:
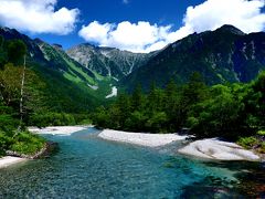
[[[234,143],[222,142],[218,138],[201,139],[190,143],[186,147],[179,149],[178,153],[216,160],[261,160],[261,157],[253,151],[246,150]]]

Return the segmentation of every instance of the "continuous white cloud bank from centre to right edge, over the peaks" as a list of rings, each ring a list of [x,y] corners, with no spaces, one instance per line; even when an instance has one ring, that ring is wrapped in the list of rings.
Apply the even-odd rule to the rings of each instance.
[[[124,21],[118,24],[100,24],[94,21],[87,27],[83,25],[80,35],[102,46],[150,52],[193,32],[215,30],[223,24],[232,24],[246,33],[263,31],[265,14],[261,9],[264,6],[264,0],[206,0],[187,9],[183,25],[177,31],[173,31],[171,25],[159,27],[144,21]]]

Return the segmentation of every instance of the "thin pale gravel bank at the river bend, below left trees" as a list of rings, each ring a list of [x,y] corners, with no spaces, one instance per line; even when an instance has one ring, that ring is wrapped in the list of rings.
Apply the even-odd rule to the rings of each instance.
[[[50,126],[45,128],[29,127],[29,130],[34,134],[50,134],[50,135],[66,135],[70,136],[75,132],[84,130],[92,126]]]

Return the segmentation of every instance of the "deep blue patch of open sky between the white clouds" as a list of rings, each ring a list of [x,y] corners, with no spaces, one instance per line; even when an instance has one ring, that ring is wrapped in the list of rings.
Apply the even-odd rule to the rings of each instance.
[[[40,36],[50,43],[63,44],[67,49],[85,42],[78,36],[78,30],[82,24],[88,24],[92,21],[102,23],[149,21],[152,24],[172,24],[177,30],[182,25],[186,9],[202,2],[203,0],[130,0],[128,3],[124,3],[123,0],[60,0],[57,8],[80,9],[80,22],[77,22],[75,31],[65,36],[51,34],[32,34],[32,36]]]

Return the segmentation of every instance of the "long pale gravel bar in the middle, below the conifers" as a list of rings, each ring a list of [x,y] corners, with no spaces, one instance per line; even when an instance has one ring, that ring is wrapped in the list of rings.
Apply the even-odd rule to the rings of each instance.
[[[135,144],[147,147],[159,147],[168,145],[172,142],[184,140],[188,136],[178,134],[142,134],[127,133],[113,129],[104,129],[98,137],[113,142]]]

